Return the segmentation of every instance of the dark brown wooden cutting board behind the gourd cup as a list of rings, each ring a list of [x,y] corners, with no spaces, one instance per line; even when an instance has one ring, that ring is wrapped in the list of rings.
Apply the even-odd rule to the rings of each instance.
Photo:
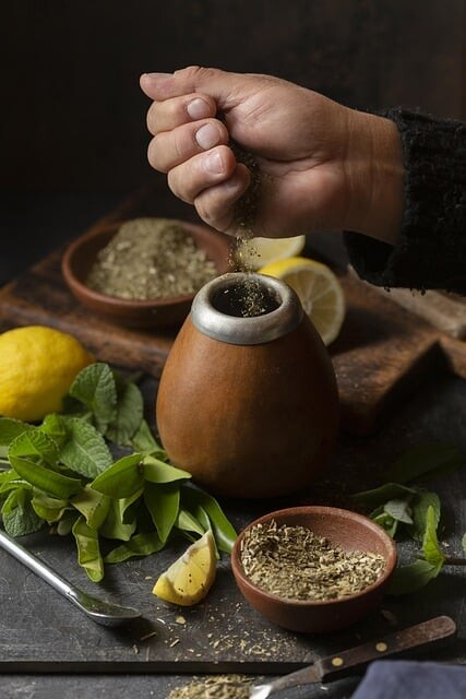
[[[154,192],[145,190],[106,221],[167,215],[156,202]],[[0,291],[0,327],[59,328],[79,337],[100,360],[159,377],[178,329],[128,330],[93,316],[68,291],[61,254],[56,250]],[[466,378],[466,342],[434,328],[350,272],[343,273],[340,282],[347,313],[330,352],[345,430],[372,433],[416,387],[439,371]]]

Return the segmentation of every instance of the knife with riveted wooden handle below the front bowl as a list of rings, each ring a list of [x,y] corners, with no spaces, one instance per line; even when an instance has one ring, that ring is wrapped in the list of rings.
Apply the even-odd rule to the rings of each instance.
[[[420,649],[433,641],[453,636],[455,631],[456,625],[453,619],[449,616],[438,616],[390,636],[342,651],[336,655],[322,657],[312,665],[278,677],[267,684],[252,685],[249,690],[249,699],[266,699],[266,697],[280,689],[339,679],[351,675],[355,671],[362,670],[373,660],[387,657],[413,648]]]

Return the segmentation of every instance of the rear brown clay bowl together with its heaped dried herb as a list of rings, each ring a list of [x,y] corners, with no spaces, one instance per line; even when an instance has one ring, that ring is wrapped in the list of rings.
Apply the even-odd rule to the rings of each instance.
[[[132,218],[71,242],[62,274],[87,309],[129,328],[180,325],[195,293],[231,271],[231,239],[203,224]]]

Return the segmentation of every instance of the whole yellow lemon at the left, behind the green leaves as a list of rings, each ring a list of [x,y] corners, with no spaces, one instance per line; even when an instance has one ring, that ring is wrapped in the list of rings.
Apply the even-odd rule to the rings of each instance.
[[[72,335],[27,325],[0,335],[0,415],[25,422],[62,408],[74,378],[94,360]]]

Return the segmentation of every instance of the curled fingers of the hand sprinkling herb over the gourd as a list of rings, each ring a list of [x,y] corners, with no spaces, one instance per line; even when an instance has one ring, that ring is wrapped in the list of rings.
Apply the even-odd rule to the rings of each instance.
[[[236,202],[249,187],[250,173],[237,164],[227,128],[215,115],[234,105],[234,83],[242,86],[243,81],[235,73],[195,67],[141,76],[143,92],[154,99],[147,112],[154,135],[151,165],[168,173],[171,191],[194,204],[207,224],[232,235]]]

